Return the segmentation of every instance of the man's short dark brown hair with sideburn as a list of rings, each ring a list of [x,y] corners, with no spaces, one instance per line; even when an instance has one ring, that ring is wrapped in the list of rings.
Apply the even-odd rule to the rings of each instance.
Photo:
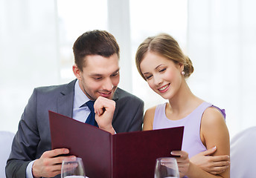
[[[120,57],[118,42],[111,33],[105,30],[92,30],[83,33],[73,45],[74,63],[83,71],[86,66],[86,56],[100,55],[109,57],[113,54]]]

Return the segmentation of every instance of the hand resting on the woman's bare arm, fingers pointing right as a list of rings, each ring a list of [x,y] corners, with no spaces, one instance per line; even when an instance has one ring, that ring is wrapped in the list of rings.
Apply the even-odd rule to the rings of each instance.
[[[230,165],[230,159],[228,155],[211,156],[215,151],[217,151],[216,147],[196,154],[195,156],[191,157],[191,162],[208,173],[220,174],[224,172],[226,168],[228,168]]]

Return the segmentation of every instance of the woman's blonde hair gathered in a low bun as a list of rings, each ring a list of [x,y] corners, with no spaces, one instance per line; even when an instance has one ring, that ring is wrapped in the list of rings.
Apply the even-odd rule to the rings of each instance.
[[[151,36],[142,42],[135,55],[135,62],[138,72],[145,79],[143,73],[141,73],[141,61],[147,52],[157,53],[166,59],[170,59],[175,63],[184,65],[185,78],[191,76],[193,73],[193,65],[191,59],[182,52],[178,42],[173,39],[172,36],[167,33],[160,33],[157,36]],[[146,80],[146,79],[145,79]]]

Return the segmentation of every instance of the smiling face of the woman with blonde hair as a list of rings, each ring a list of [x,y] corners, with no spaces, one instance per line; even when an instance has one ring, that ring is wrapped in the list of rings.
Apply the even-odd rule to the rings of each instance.
[[[183,65],[157,53],[147,52],[140,67],[150,88],[164,99],[171,99],[182,85]]]

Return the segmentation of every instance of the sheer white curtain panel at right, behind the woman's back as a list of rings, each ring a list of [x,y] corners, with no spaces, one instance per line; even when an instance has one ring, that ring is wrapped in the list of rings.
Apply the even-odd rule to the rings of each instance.
[[[188,1],[191,88],[225,108],[231,136],[256,125],[256,1]]]

